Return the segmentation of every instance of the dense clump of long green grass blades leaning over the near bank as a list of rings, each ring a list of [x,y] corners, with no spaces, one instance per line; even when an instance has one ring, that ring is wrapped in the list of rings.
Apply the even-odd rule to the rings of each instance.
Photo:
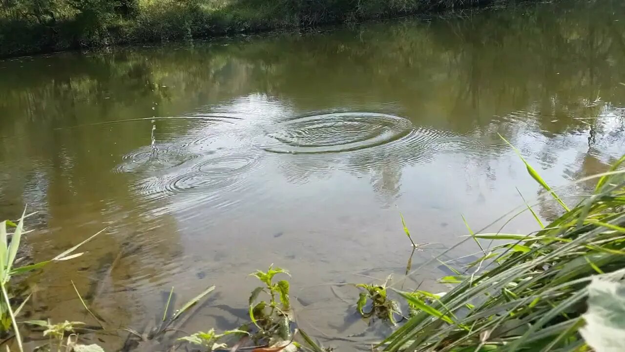
[[[589,283],[625,277],[625,156],[571,209],[523,162],[564,214],[532,234],[469,236],[504,244],[464,268],[440,298],[399,292],[427,309],[388,336],[384,351],[592,350],[579,333]]]

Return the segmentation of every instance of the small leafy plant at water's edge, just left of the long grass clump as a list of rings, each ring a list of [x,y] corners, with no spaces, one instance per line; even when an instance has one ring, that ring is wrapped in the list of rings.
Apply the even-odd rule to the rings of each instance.
[[[387,292],[387,284],[391,280],[389,275],[382,285],[372,284],[355,284],[354,286],[362,289],[356,303],[356,309],[362,318],[377,317],[391,324],[396,324],[393,314],[401,314],[399,305],[396,301],[389,298]],[[371,303],[371,309],[364,311],[367,302]]]

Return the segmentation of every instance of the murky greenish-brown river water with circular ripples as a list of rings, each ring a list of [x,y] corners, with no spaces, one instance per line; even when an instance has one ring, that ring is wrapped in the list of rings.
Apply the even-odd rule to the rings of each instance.
[[[32,279],[31,316],[89,320],[73,279],[104,318],[139,329],[161,312],[159,291],[184,301],[216,284],[185,329],[232,328],[256,286],[247,274],[275,263],[309,333],[361,334],[339,298],[356,291],[325,284],[401,276],[411,248],[396,205],[430,243],[417,267],[467,233],[461,214],[481,229],[522,205],[517,189],[536,199],[497,133],[551,185],[625,153],[624,10],[539,4],[0,61],[1,217],[37,210],[34,260],[107,227]],[[443,275],[431,265],[406,284],[442,291]]]

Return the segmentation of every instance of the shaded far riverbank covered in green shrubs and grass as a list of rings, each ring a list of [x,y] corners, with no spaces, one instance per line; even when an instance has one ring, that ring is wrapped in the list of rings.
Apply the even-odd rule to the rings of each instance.
[[[0,4],[0,57],[208,38],[425,14],[504,0],[16,0]]]

